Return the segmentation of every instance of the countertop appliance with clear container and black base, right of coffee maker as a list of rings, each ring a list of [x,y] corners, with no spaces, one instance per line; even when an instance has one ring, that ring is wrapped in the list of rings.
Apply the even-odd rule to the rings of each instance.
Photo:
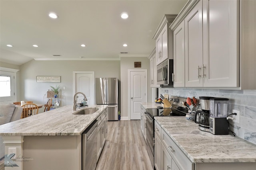
[[[210,98],[210,133],[228,135],[228,102],[227,98]]]

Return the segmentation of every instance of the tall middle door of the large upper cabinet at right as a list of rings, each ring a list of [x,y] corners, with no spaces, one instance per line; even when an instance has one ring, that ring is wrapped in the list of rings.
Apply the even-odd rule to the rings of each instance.
[[[188,13],[185,21],[185,84],[202,87],[203,30],[202,0]]]

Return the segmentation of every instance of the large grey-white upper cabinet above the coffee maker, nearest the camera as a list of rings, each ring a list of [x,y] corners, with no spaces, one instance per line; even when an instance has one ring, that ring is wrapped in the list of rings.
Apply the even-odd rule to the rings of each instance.
[[[177,63],[177,33],[184,22],[185,87],[240,86],[239,2],[189,0],[170,25],[174,32],[174,68],[182,68],[183,64]],[[184,87],[177,78],[174,75],[174,86]]]

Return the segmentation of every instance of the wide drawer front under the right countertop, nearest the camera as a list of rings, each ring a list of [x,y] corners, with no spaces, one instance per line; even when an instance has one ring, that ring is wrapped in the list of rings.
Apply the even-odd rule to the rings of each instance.
[[[194,170],[194,163],[180,150],[169,135],[162,130],[162,143],[180,170]]]

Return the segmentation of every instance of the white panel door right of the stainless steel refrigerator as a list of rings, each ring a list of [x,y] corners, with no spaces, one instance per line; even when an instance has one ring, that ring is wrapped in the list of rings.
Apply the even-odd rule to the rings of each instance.
[[[140,104],[147,101],[147,70],[129,70],[130,119],[140,119]]]

